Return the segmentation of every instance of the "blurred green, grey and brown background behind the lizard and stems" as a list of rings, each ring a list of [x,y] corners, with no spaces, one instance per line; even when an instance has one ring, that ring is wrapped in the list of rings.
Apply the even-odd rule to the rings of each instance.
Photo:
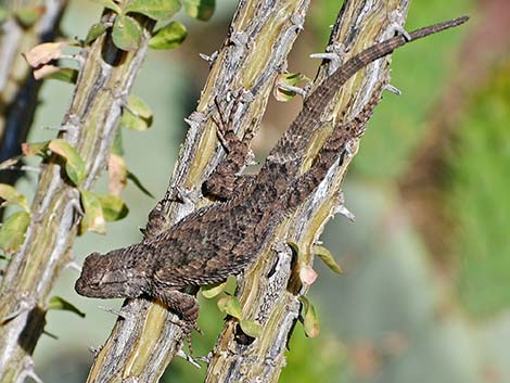
[[[154,111],[145,132],[124,131],[126,162],[161,197],[208,67],[199,53],[220,47],[235,1],[218,1],[201,23],[182,15],[189,36],[169,52],[152,51],[135,93]],[[340,2],[316,0],[290,59],[292,72],[314,77]],[[63,30],[85,37],[101,5],[69,2]],[[361,141],[345,181],[349,222],[332,220],[322,235],[344,272],[317,264],[310,291],[321,332],[306,339],[297,325],[281,382],[497,383],[510,382],[510,3],[507,0],[413,1],[409,30],[469,14],[468,25],[394,54],[392,85]],[[72,86],[47,81],[29,141],[54,138]],[[301,100],[270,101],[255,152],[260,158],[293,119]],[[20,181],[34,193],[36,176]],[[106,190],[106,182],[99,186]],[[106,235],[78,239],[75,257],[141,239],[155,205],[128,186],[124,220]],[[84,382],[92,354],[106,340],[120,301],[87,299],[66,270],[54,294],[78,306],[85,319],[50,311],[36,354],[47,383]],[[194,349],[205,355],[221,328],[214,302],[202,306]],[[197,370],[176,358],[162,382],[199,382]]]

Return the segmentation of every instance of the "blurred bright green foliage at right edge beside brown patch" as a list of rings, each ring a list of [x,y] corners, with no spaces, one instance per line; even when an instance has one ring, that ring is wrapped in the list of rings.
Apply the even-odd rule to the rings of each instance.
[[[510,307],[510,61],[473,94],[449,156],[459,292],[470,312]]]

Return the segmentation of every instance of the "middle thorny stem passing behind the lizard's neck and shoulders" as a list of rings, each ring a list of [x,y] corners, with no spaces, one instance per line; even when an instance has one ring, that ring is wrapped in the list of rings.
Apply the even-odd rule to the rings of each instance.
[[[218,164],[224,151],[218,145],[211,114],[214,99],[228,100],[240,88],[245,103],[239,105],[234,129],[258,126],[276,76],[286,68],[288,53],[303,29],[308,0],[241,0],[214,64],[196,111],[188,119],[190,130],[166,195],[150,215],[148,235],[169,228],[194,209],[208,203],[201,186]],[[178,190],[195,199],[176,202]],[[180,195],[182,197],[182,195]],[[165,219],[161,219],[165,217]],[[162,227],[162,221],[165,224]],[[180,347],[182,333],[176,317],[157,303],[128,299],[99,353],[88,382],[114,382],[132,378],[156,382]]]

